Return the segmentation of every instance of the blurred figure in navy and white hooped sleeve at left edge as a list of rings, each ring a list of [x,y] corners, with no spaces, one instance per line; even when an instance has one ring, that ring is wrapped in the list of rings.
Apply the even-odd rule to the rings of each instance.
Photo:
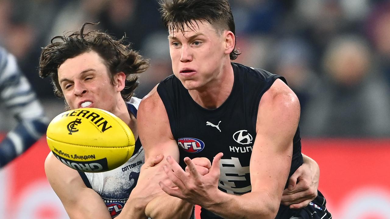
[[[0,47],[0,102],[18,124],[0,142],[0,168],[31,147],[46,133],[48,120],[16,59]],[[4,111],[3,111],[4,112]],[[2,123],[3,125],[7,125]]]

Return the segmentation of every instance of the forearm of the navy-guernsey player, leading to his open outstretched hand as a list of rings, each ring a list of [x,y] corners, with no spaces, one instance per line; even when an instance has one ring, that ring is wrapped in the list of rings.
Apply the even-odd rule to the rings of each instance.
[[[220,191],[213,203],[201,206],[225,219],[274,219],[279,203],[280,197],[271,196],[266,191],[251,192],[241,196]]]

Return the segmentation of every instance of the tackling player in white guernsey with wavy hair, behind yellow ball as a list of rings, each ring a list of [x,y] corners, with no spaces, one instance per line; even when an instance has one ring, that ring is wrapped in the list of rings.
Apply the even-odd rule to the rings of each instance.
[[[140,99],[132,95],[138,85],[137,74],[147,69],[148,61],[123,40],[115,40],[97,30],[83,32],[87,24],[90,23],[85,23],[80,32],[54,37],[43,48],[39,75],[51,76],[55,94],[64,97],[68,108],[93,107],[110,111],[129,125],[137,139]],[[129,161],[111,171],[81,173],[60,162],[52,153],[47,156],[44,167],[51,187],[70,218],[143,219],[147,218],[146,204],[163,194],[158,182],[168,179],[161,167],[151,168],[162,159],[162,155],[156,155],[144,161],[144,150],[137,140],[136,151]],[[197,164],[204,174],[211,166],[204,159]],[[137,184],[138,180],[144,183]],[[177,208],[172,218],[190,218],[191,212],[184,212],[186,215],[183,212]]]

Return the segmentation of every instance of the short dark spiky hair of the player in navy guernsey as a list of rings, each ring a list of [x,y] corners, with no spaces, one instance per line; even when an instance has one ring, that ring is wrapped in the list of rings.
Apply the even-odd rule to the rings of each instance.
[[[196,23],[205,20],[216,30],[230,30],[236,35],[236,26],[228,0],[160,0],[160,6],[161,18],[168,30],[181,30],[184,33],[184,26],[193,30],[192,21]],[[235,60],[240,54],[234,42],[230,60]]]

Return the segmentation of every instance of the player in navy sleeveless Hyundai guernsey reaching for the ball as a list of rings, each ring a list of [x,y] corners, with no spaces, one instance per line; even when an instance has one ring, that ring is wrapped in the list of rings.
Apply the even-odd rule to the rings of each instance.
[[[316,186],[294,190],[316,184],[300,170],[298,98],[283,77],[232,62],[228,0],[163,0],[160,10],[174,74],[141,101],[138,133],[146,158],[166,157],[156,166],[177,188],[160,182],[163,191],[200,205],[202,219],[330,219]],[[206,175],[196,157],[212,161]],[[172,204],[167,194],[151,201],[160,212]]]

